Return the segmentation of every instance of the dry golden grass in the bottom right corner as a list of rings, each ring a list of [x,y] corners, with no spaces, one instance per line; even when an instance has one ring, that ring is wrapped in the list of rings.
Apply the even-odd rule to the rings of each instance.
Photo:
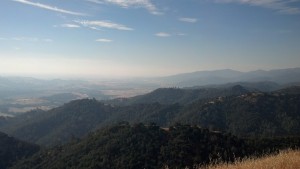
[[[300,169],[300,151],[282,151],[258,159],[245,159],[234,164],[211,165],[207,169]]]

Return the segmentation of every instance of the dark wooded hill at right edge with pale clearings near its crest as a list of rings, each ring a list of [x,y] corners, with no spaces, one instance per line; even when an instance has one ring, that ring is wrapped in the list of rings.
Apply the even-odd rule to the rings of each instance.
[[[300,134],[300,95],[254,92],[194,102],[174,121],[197,124],[237,136]]]

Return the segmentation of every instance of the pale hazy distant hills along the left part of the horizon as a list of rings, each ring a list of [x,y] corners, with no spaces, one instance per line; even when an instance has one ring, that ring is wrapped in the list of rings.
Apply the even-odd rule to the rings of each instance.
[[[104,95],[99,89],[104,88],[103,85],[93,85],[83,80],[42,80],[30,77],[0,76],[0,99],[39,98],[61,93],[91,94],[101,99]]]

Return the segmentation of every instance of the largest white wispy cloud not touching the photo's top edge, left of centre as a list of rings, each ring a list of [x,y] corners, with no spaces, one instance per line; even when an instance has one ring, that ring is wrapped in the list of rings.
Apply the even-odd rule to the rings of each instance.
[[[82,26],[89,27],[91,29],[98,29],[98,28],[108,28],[108,29],[117,29],[117,30],[125,30],[125,31],[131,31],[133,30],[132,28],[114,23],[111,21],[88,21],[88,20],[83,20],[83,21],[74,21],[75,23],[81,24]]]

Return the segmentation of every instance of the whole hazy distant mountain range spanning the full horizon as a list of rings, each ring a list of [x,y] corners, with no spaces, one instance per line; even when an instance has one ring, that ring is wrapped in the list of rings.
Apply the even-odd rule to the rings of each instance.
[[[257,70],[240,72],[231,69],[198,71],[160,78],[136,78],[128,80],[41,80],[30,77],[1,77],[0,99],[23,97],[48,97],[61,93],[81,93],[96,99],[114,95],[107,91],[130,89],[156,89],[159,87],[195,87],[228,83],[269,82],[274,85],[300,84],[300,68]],[[141,94],[141,93],[137,93]],[[106,97],[105,97],[106,96]],[[118,95],[115,95],[118,97]]]

